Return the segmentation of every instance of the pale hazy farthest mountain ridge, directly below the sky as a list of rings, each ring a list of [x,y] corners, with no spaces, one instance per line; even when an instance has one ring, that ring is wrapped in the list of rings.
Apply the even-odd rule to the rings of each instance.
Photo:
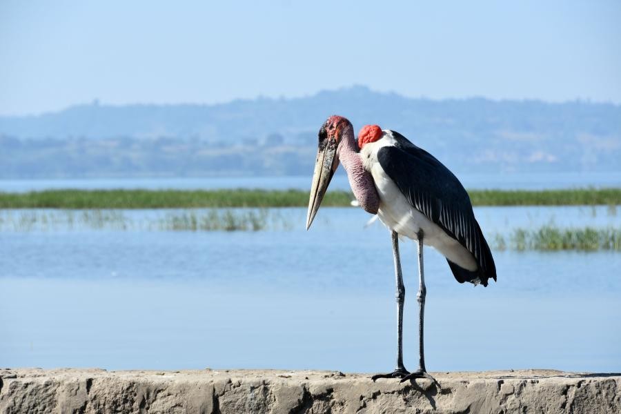
[[[516,116],[517,112],[522,116]],[[94,102],[42,115],[0,117],[0,133],[35,139],[101,139],[119,135],[150,138],[198,136],[211,139],[231,131],[234,135],[254,136],[275,130],[314,130],[333,113],[348,117],[356,127],[378,123],[399,130],[421,126],[446,127],[446,124],[472,127],[480,123],[536,128],[542,124],[551,126],[559,121],[569,122],[570,127],[600,132],[618,132],[621,128],[621,106],[610,103],[491,101],[483,98],[435,101],[373,92],[364,86],[354,86],[322,91],[311,97],[258,98],[215,105],[110,106]]]

